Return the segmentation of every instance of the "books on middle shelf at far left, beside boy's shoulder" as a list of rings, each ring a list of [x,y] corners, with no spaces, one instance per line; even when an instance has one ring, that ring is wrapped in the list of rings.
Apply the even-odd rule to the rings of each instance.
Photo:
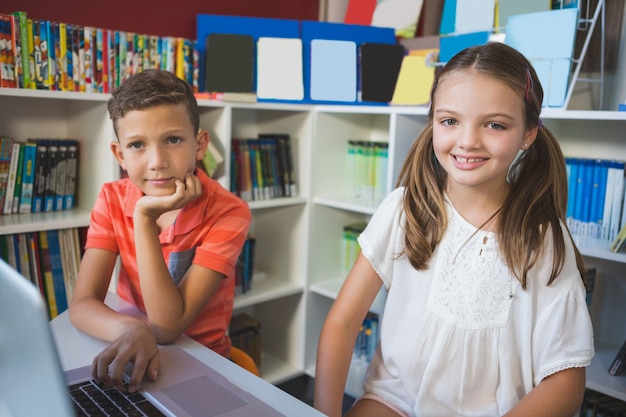
[[[2,214],[74,208],[79,146],[76,139],[0,137]]]

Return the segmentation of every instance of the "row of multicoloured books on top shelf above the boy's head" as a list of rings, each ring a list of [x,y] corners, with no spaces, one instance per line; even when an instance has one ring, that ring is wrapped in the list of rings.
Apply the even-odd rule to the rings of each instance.
[[[160,68],[198,87],[195,40],[0,13],[0,86],[109,93],[132,74]]]

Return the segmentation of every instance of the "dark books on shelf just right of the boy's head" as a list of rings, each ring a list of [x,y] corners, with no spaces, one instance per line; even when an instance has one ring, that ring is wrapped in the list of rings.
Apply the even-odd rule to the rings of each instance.
[[[294,197],[297,187],[288,134],[233,138],[230,191],[246,201]]]

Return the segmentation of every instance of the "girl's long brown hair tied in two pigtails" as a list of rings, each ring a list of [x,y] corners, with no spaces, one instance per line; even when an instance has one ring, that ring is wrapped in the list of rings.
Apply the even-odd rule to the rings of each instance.
[[[448,74],[468,70],[504,82],[519,93],[525,103],[526,128],[539,127],[535,142],[511,166],[508,178],[511,188],[498,216],[496,233],[504,260],[522,288],[526,288],[528,272],[537,263],[550,234],[554,258],[549,285],[565,262],[562,233],[567,209],[565,158],[554,135],[541,124],[543,89],[535,70],[520,52],[499,42],[461,51],[443,67],[433,85],[428,124],[411,146],[398,177],[397,185],[406,187],[404,252],[414,268],[425,269],[446,230],[447,173],[433,150],[435,92],[438,82]],[[572,244],[584,279],[582,257]]]

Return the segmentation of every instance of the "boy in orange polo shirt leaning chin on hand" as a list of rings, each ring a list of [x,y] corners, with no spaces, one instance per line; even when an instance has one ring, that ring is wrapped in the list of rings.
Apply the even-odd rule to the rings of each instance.
[[[186,82],[168,71],[140,72],[108,109],[117,136],[111,151],[128,178],[105,184],[94,205],[69,315],[79,330],[111,342],[94,358],[96,380],[123,389],[124,367],[133,363],[133,392],[144,374],[158,377],[157,344],[183,332],[230,356],[234,266],[251,215],[196,169],[209,134]],[[118,255],[118,294],[145,317],[104,304]]]

